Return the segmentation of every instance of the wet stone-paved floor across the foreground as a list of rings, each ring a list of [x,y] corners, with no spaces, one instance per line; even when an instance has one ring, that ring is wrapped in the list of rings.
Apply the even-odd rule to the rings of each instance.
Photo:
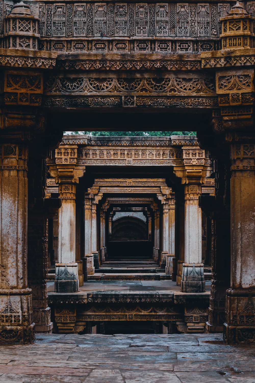
[[[37,334],[0,346],[2,383],[255,383],[255,345],[222,334]]]

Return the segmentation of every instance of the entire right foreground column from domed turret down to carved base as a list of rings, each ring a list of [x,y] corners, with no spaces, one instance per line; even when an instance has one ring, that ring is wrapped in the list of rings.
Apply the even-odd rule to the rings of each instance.
[[[225,134],[230,144],[231,282],[224,323],[227,343],[255,342],[254,64],[249,59],[255,56],[254,22],[244,3],[237,2],[221,19],[221,51],[201,54],[202,67],[214,67],[216,72],[219,109],[214,111],[213,127]],[[220,67],[216,62],[221,63]]]

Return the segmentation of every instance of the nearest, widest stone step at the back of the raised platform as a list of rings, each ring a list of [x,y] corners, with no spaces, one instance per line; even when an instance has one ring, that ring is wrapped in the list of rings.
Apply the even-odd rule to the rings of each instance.
[[[95,273],[94,275],[88,275],[88,280],[100,280],[100,281],[162,281],[172,280],[172,275],[166,275],[165,273]]]

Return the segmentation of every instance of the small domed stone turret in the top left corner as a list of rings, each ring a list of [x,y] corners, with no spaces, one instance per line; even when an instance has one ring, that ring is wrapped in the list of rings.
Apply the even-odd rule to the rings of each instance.
[[[29,5],[22,1],[15,4],[5,17],[5,48],[38,49],[38,21],[31,14]]]

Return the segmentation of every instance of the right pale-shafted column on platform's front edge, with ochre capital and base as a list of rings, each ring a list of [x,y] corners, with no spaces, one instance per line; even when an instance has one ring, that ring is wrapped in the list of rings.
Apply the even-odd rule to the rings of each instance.
[[[208,153],[198,145],[182,146],[183,167],[175,166],[174,173],[185,184],[185,263],[182,267],[181,291],[198,293],[205,291],[202,260],[202,222],[198,198],[201,184],[208,177],[211,161]]]

